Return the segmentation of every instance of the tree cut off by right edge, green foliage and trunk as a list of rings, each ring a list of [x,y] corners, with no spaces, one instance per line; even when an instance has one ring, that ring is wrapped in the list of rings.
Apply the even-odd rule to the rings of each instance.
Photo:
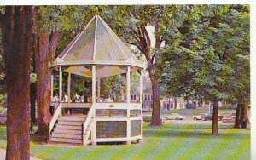
[[[250,17],[247,5],[232,6],[227,20],[232,20],[232,34],[225,38],[230,46],[230,56],[226,58],[232,68],[226,90],[230,91],[228,100],[237,103],[235,128],[240,128],[242,121],[249,123],[247,108],[250,103]],[[222,42],[223,43],[223,42]],[[236,89],[236,90],[234,90]]]

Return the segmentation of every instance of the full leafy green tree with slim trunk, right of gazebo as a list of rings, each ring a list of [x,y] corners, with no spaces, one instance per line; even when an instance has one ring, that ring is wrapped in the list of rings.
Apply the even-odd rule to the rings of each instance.
[[[191,6],[190,12],[192,16],[166,37],[162,83],[169,85],[171,94],[211,100],[212,135],[218,135],[218,100],[229,99],[227,86],[234,79],[230,61],[248,21],[239,25],[240,11],[233,5]]]

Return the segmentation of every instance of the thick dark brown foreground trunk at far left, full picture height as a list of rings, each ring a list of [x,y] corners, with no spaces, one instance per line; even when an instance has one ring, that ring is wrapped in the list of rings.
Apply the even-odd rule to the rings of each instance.
[[[7,78],[6,159],[29,159],[32,6],[6,6],[3,49]]]

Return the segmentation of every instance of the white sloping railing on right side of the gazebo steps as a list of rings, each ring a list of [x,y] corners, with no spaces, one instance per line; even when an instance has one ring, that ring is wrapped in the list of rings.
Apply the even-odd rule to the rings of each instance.
[[[91,117],[94,117],[94,113],[95,113],[95,109],[94,109],[94,105],[92,105],[88,111],[87,117],[84,121],[84,124],[82,126],[82,139],[83,139],[83,143],[84,145],[86,145],[87,140],[89,139],[90,136],[90,132],[92,129],[91,126]]]

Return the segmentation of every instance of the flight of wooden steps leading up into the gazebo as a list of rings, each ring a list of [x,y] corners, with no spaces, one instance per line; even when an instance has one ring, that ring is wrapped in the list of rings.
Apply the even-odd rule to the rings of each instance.
[[[58,117],[58,123],[49,136],[50,143],[83,144],[82,123],[86,116]]]

